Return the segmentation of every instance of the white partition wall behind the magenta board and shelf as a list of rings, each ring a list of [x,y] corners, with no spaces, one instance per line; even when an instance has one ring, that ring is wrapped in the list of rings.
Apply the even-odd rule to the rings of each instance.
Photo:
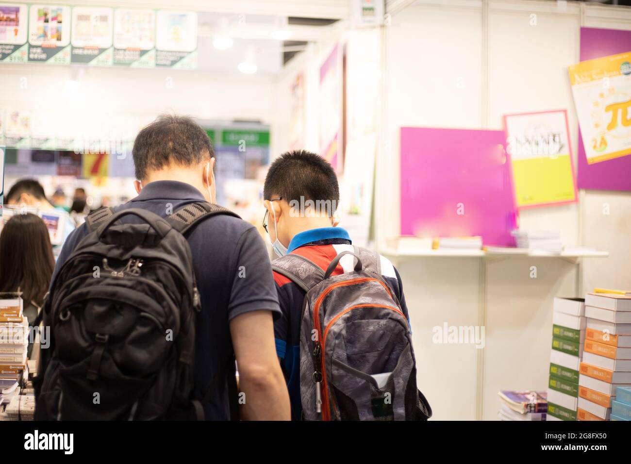
[[[567,109],[578,126],[567,66],[581,25],[631,29],[631,9],[575,2],[417,1],[384,28],[382,140],[375,226],[380,247],[399,232],[401,126],[501,129],[511,112]],[[631,175],[631,173],[629,173]],[[521,211],[526,230],[558,230],[565,246],[608,258],[401,257],[419,384],[435,419],[497,419],[498,390],[545,390],[555,296],[631,287],[631,195],[581,191],[575,205]],[[603,204],[609,214],[603,215]],[[535,266],[536,278],[531,277]],[[437,345],[432,327],[485,327],[486,346]]]

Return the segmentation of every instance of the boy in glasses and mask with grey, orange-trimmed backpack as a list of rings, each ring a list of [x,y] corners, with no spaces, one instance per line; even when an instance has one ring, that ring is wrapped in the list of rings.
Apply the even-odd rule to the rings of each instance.
[[[263,194],[263,227],[279,256],[274,337],[292,419],[427,419],[401,278],[337,227],[331,165],[304,150],[284,153]]]

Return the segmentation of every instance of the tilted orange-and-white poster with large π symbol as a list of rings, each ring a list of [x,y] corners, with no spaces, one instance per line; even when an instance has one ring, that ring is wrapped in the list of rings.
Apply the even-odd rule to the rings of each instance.
[[[569,68],[587,163],[631,154],[631,52]]]

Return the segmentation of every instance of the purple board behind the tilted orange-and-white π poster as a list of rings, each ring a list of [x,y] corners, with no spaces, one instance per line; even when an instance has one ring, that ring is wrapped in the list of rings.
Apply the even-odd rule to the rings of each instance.
[[[581,28],[581,61],[631,51],[631,31]],[[631,191],[631,156],[587,164],[579,129],[579,189]]]

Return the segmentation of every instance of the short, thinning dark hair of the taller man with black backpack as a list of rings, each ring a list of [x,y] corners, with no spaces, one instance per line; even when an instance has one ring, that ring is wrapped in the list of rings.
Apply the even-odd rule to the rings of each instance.
[[[170,164],[191,166],[215,156],[208,134],[191,117],[162,114],[134,141],[136,179]]]

